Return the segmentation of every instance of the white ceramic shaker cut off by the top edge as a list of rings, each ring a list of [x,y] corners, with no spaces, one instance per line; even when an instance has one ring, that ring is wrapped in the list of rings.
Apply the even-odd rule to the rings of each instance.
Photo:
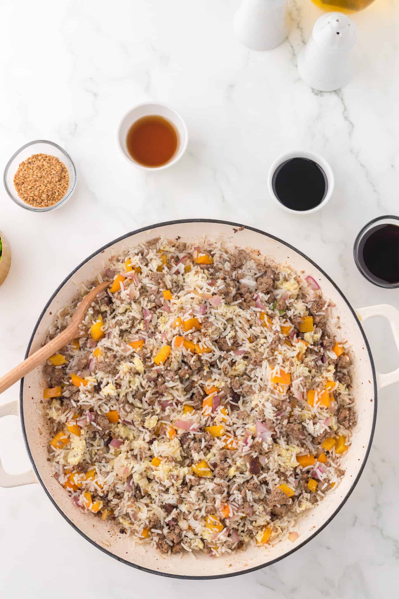
[[[242,0],[233,28],[251,50],[272,50],[284,42],[290,29],[287,0]]]

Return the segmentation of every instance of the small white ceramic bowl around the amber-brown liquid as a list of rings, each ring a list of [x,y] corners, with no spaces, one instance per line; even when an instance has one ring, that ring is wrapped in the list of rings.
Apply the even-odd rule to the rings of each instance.
[[[161,167],[145,167],[130,156],[126,146],[126,136],[130,127],[136,120],[141,119],[144,116],[162,116],[164,119],[169,120],[170,123],[175,127],[178,134],[178,145],[175,154]],[[118,127],[118,146],[121,152],[127,158],[129,162],[132,162],[136,167],[141,168],[144,171],[163,171],[165,168],[169,168],[172,164],[176,164],[181,159],[185,152],[188,144],[188,131],[185,126],[182,117],[176,113],[173,108],[166,106],[165,104],[155,104],[153,102],[145,102],[144,104],[138,104],[129,112],[125,114]]]

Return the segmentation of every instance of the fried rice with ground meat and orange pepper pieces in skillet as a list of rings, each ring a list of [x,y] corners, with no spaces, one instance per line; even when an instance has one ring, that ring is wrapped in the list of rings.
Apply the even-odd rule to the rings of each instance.
[[[50,461],[77,509],[164,553],[295,541],[356,423],[318,284],[251,250],[159,239],[107,278],[83,336],[44,367]]]

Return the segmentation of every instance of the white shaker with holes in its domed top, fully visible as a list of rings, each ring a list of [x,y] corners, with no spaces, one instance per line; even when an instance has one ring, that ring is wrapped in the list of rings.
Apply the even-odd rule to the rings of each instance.
[[[356,40],[357,26],[346,14],[324,14],[298,56],[301,78],[321,92],[333,92],[349,83]]]

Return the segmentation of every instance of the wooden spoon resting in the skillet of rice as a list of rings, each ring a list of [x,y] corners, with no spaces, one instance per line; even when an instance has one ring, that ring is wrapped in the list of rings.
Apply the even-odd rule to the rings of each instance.
[[[90,304],[92,303],[96,295],[99,294],[100,291],[103,291],[103,289],[108,287],[108,285],[111,285],[111,282],[104,281],[103,283],[101,283],[101,285],[98,285],[97,287],[92,289],[92,291],[90,291],[78,305],[75,314],[74,316],[72,316],[71,322],[66,327],[66,329],[60,332],[60,334],[57,335],[57,337],[54,337],[54,339],[48,341],[48,343],[46,343],[43,347],[38,349],[37,352],[32,353],[32,355],[29,356],[29,358],[26,358],[26,360],[24,360],[23,362],[21,362],[21,364],[13,368],[13,370],[10,370],[8,374],[5,374],[3,377],[1,377],[0,393],[5,391],[5,389],[8,389],[8,387],[11,387],[11,385],[14,385],[14,383],[16,383],[17,380],[22,379],[22,377],[24,377],[25,374],[30,373],[31,370],[33,370],[33,368],[36,368],[36,366],[44,364],[44,362],[48,360],[50,356],[53,356],[54,353],[57,353],[67,343],[70,343],[72,339],[80,337],[79,329],[81,327],[81,322],[84,319],[84,315],[86,314],[87,310],[90,307]]]

